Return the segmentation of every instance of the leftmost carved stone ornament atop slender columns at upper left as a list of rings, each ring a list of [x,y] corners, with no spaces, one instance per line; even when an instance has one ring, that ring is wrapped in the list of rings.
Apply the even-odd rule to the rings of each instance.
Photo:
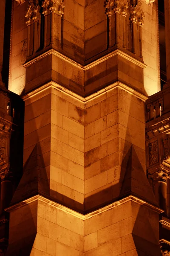
[[[40,4],[39,0],[29,0],[28,9],[26,11],[26,24],[30,25],[32,20],[40,19]]]

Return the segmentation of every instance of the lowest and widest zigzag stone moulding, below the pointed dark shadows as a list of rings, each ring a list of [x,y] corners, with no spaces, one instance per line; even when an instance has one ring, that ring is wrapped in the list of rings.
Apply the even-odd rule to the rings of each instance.
[[[74,210],[72,210],[72,209],[70,209],[68,207],[65,207],[62,204],[58,204],[58,203],[56,203],[54,201],[51,201],[51,200],[49,200],[47,198],[44,198],[41,195],[35,195],[35,196],[33,196],[31,198],[28,198],[28,199],[26,199],[26,200],[24,200],[24,201],[22,201],[22,202],[20,202],[18,204],[14,204],[13,206],[8,207],[5,210],[6,210],[6,212],[13,212],[15,209],[19,209],[21,207],[24,207],[26,204],[31,204],[34,201],[41,201],[41,202],[43,202],[45,204],[48,204],[48,205],[50,205],[52,207],[55,207],[56,209],[60,209],[61,211],[66,212],[68,214],[71,214],[74,217],[77,217],[77,218],[82,219],[84,221],[89,219],[89,218],[92,218],[92,217],[94,217],[96,215],[99,215],[102,212],[106,212],[106,211],[108,211],[110,209],[113,209],[114,207],[117,207],[117,206],[119,206],[121,204],[125,204],[125,203],[127,203],[129,201],[133,201],[133,202],[136,202],[138,204],[144,205],[145,207],[148,207],[148,208],[152,209],[154,212],[158,212],[158,213],[164,212],[160,208],[158,208],[158,207],[156,207],[156,206],[154,206],[152,204],[149,204],[146,201],[144,201],[142,199],[139,199],[139,198],[137,198],[137,197],[135,197],[133,195],[127,196],[126,198],[123,198],[123,199],[121,199],[119,201],[116,201],[116,202],[114,202],[112,204],[109,204],[109,205],[107,205],[105,207],[102,207],[100,209],[97,209],[97,210],[95,210],[93,212],[90,212],[88,214],[85,214],[85,215],[83,215],[83,214],[81,214],[79,212],[76,212],[76,211],[74,211]]]

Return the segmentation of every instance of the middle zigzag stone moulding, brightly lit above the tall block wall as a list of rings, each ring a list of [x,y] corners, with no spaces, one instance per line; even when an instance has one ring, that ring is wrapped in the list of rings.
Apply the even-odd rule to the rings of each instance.
[[[96,99],[99,96],[102,96],[104,93],[107,93],[111,90],[116,89],[117,87],[119,87],[122,90],[125,90],[127,93],[130,93],[131,95],[141,99],[142,101],[146,101],[148,99],[147,96],[143,95],[142,93],[139,93],[138,91],[130,88],[129,86],[123,84],[122,82],[116,81],[115,83],[108,85],[107,87],[99,90],[96,93],[91,94],[90,96],[87,96],[85,98],[83,98],[82,96],[79,96],[77,93],[72,92],[71,90],[66,89],[65,87],[63,87],[62,85],[57,84],[54,81],[50,81],[47,84],[42,85],[41,87],[32,90],[30,93],[27,93],[26,95],[23,96],[23,100],[26,101],[27,99],[30,99],[32,97],[34,97],[35,95],[43,92],[44,90],[47,90],[48,88],[53,87],[56,90],[59,90],[62,93],[65,93],[66,95],[71,96],[72,98],[78,100],[81,103],[84,103],[85,105]]]

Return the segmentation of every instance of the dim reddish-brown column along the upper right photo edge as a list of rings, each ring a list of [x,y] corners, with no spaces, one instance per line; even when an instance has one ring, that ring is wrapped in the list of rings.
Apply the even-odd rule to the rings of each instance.
[[[167,83],[170,83],[170,0],[164,0]]]

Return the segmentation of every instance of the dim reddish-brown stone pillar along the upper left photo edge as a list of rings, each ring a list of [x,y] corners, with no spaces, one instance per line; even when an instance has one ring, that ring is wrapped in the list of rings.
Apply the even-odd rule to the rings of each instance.
[[[4,86],[2,81],[2,67],[3,67],[3,35],[5,23],[5,5],[6,0],[0,1],[0,86]]]

